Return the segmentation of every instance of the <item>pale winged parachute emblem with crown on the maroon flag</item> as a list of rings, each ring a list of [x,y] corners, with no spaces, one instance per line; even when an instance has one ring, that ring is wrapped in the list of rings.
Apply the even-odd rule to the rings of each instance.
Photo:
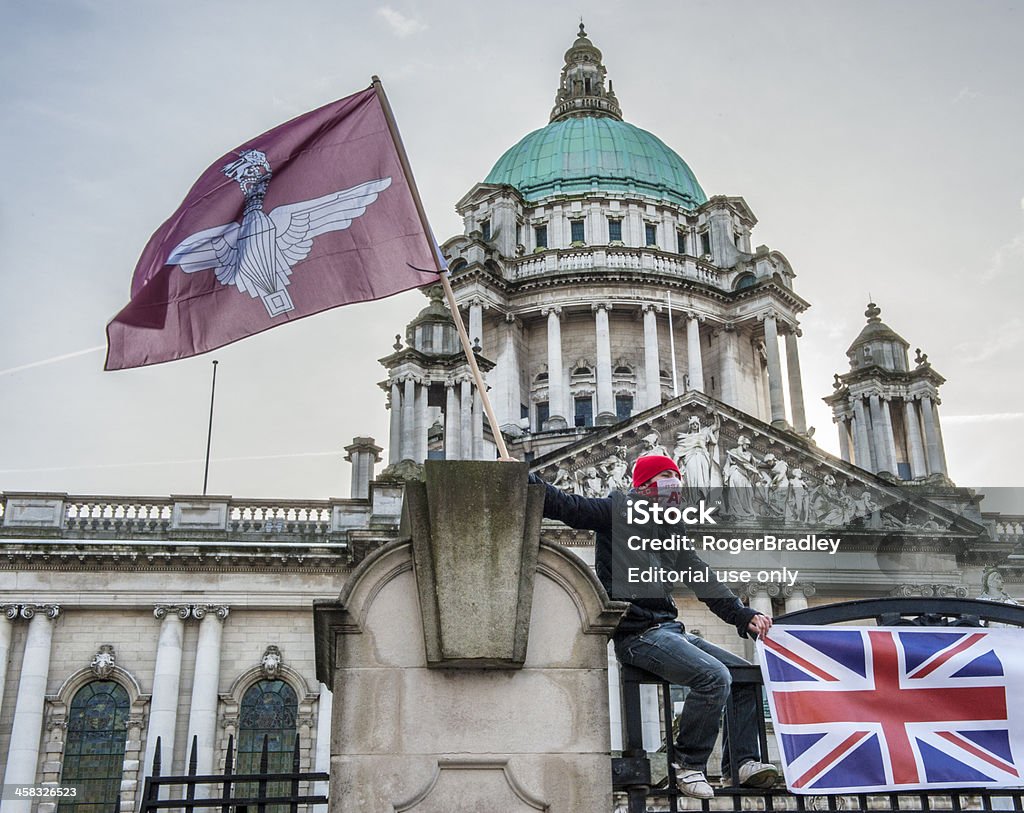
[[[263,300],[271,318],[295,309],[285,289],[292,267],[309,255],[313,239],[348,228],[391,185],[391,178],[377,178],[266,213],[263,199],[273,173],[265,154],[248,149],[221,171],[242,188],[242,223],[225,223],[185,238],[171,251],[167,264],[180,265],[185,273],[212,268],[221,285],[233,285]]]

